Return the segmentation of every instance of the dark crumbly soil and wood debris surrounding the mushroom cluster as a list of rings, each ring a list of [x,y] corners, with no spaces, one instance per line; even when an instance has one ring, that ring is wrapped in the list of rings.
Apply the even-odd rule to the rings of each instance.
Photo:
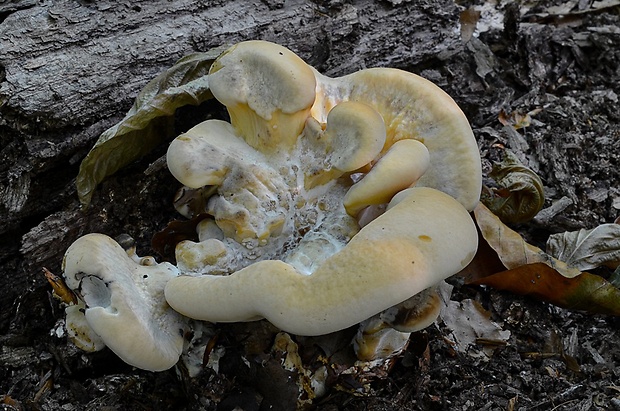
[[[462,3],[465,9],[472,2]],[[478,3],[479,8],[490,7]],[[488,30],[477,31],[466,47],[438,55],[432,65],[401,68],[436,82],[463,108],[485,173],[509,148],[540,175],[547,210],[515,228],[544,248],[551,233],[593,228],[620,215],[620,6],[574,1],[568,2],[573,5],[568,11],[556,13],[550,7],[561,2],[539,2],[529,10],[501,3],[505,5],[483,10],[478,28]],[[489,10],[499,25],[488,26]],[[462,18],[465,29],[467,21]],[[182,110],[179,129],[209,109]],[[529,126],[518,130],[499,121],[500,112],[513,118],[535,110]],[[28,234],[32,243],[51,232],[68,235],[59,228],[81,219],[84,233],[93,227],[112,236],[130,233],[141,254],[152,253],[151,236],[177,218],[170,205],[177,183],[165,168],[144,173],[164,152],[165,147],[159,148],[102,184],[88,213],[67,208],[46,219]],[[133,201],[137,192],[139,203]],[[549,208],[558,202],[565,206]],[[7,263],[3,269],[19,264],[24,262]],[[458,277],[450,282],[453,300],[478,301],[511,332],[491,358],[456,351],[450,330],[439,322],[414,334],[389,372],[347,376],[334,367],[328,380],[332,388],[314,407],[620,409],[620,319],[464,285]],[[108,350],[79,351],[67,342],[59,323],[61,305],[45,286],[32,286],[13,310],[0,336],[0,409],[284,410],[297,400],[296,376],[279,365],[280,354],[270,351],[273,330],[264,324],[219,327],[215,346],[226,348],[220,372],[205,369],[190,378],[183,367],[151,373],[133,369]],[[297,341],[306,364],[316,366],[311,362],[324,345]],[[364,378],[366,386],[360,383]]]

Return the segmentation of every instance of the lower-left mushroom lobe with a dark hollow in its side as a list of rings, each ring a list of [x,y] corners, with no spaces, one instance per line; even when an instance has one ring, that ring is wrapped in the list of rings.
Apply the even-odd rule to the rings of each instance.
[[[126,363],[151,371],[176,364],[186,320],[163,296],[171,264],[138,264],[110,237],[88,234],[75,241],[63,261],[67,286],[84,301],[90,328]]]

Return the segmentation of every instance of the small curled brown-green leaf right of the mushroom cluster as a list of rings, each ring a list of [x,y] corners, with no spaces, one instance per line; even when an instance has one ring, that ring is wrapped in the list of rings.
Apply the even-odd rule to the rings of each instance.
[[[489,173],[497,188],[483,190],[480,200],[505,223],[529,221],[545,203],[543,184],[538,175],[506,150],[504,159]]]

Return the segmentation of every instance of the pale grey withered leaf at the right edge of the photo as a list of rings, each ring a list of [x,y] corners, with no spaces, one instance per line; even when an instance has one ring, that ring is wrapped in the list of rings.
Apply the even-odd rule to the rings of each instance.
[[[620,224],[601,224],[553,234],[547,240],[547,253],[581,271],[620,263]]]

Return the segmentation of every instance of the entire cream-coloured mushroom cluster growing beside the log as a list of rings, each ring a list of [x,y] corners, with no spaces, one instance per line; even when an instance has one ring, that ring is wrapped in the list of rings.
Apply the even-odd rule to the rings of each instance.
[[[480,195],[480,156],[462,111],[414,74],[376,68],[329,78],[265,41],[225,51],[208,83],[230,123],[205,121],[167,153],[186,190],[211,193],[199,241],[177,245],[175,267],[141,265],[101,235],[79,239],[65,276],[81,290],[86,323],[146,369],[178,359],[185,317],[267,319],[306,336],[362,323],[360,359],[401,350],[437,317],[434,287],[477,249],[469,211]],[[156,291],[144,292],[151,285],[139,277],[155,273]],[[143,346],[173,341],[165,364],[120,347],[126,339],[112,325],[124,311],[120,283],[143,290],[143,324],[165,334]]]

